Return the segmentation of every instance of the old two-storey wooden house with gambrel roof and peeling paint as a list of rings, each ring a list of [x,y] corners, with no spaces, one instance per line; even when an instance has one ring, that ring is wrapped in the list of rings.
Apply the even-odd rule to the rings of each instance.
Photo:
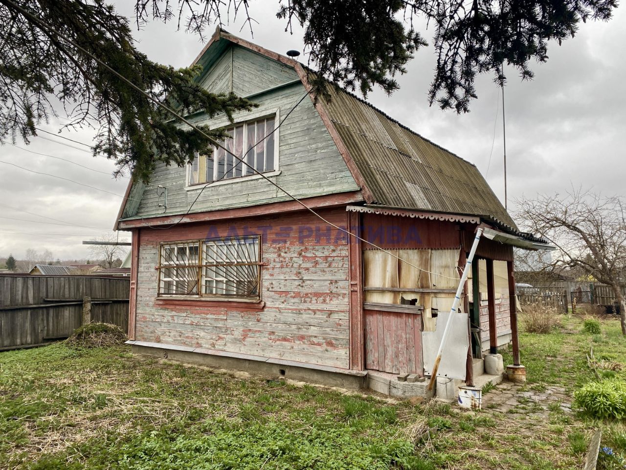
[[[297,61],[223,30],[195,63],[208,90],[259,106],[234,123],[188,118],[225,127],[230,152],[271,182],[217,148],[129,185],[116,229],[132,233],[133,350],[422,393],[403,375],[431,372],[483,227],[442,360],[454,372],[439,375],[471,384],[483,352],[511,340],[520,367],[512,246],[546,244],[516,229],[475,165],[346,91],[314,101]]]

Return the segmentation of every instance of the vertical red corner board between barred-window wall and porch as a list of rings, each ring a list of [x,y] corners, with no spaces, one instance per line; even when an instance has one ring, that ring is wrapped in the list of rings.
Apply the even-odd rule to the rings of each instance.
[[[359,233],[361,216],[357,212],[346,212],[348,231]],[[364,326],[363,326],[363,268],[361,258],[361,240],[349,237],[348,244],[349,271],[349,360],[352,370],[364,370]]]

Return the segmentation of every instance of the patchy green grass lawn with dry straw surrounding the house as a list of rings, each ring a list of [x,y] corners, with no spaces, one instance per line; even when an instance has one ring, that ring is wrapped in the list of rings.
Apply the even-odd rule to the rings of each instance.
[[[573,318],[550,335],[524,333],[528,389],[592,379],[590,345],[626,363],[616,331],[607,320],[601,335],[580,333]],[[128,347],[0,353],[0,467],[11,469],[581,468],[597,423],[558,407],[543,415],[345,394]],[[626,441],[609,427],[606,443]]]

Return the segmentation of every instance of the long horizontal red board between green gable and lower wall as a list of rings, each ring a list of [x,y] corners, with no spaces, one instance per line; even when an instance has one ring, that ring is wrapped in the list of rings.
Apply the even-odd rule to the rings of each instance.
[[[321,207],[345,206],[352,202],[362,202],[361,191],[342,192],[339,194],[327,194],[326,196],[309,197],[301,199],[307,207],[317,209]],[[175,224],[187,222],[222,221],[224,219],[237,219],[240,217],[266,216],[271,214],[283,214],[285,212],[295,212],[305,210],[301,204],[295,201],[270,202],[259,206],[237,207],[236,209],[222,209],[219,211],[193,212],[184,216],[180,220],[181,214],[160,217],[145,217],[143,219],[127,219],[120,221],[120,229],[131,229],[134,227],[148,227],[156,225]]]

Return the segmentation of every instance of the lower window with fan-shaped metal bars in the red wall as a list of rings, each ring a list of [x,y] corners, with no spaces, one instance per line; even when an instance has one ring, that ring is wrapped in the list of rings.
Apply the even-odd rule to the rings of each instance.
[[[159,296],[260,299],[260,236],[162,243]]]

